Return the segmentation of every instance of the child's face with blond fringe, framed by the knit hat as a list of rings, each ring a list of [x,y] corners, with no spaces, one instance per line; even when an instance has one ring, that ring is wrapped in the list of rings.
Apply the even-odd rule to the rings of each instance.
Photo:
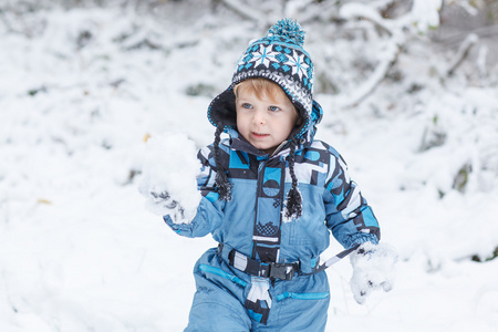
[[[237,128],[252,146],[272,154],[294,128],[298,114],[283,94],[261,94],[241,89],[237,96]]]

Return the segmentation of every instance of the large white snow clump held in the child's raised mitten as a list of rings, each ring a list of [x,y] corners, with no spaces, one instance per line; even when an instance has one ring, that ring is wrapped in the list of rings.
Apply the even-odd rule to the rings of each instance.
[[[190,222],[200,203],[196,177],[200,173],[197,148],[187,135],[165,133],[147,141],[139,191],[146,208],[169,215],[177,224]]]

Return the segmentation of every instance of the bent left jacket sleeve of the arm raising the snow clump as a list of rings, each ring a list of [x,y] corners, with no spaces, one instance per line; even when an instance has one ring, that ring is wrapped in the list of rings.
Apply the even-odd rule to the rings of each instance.
[[[219,200],[215,187],[216,168],[214,163],[212,146],[204,147],[197,154],[201,168],[197,176],[197,189],[201,194],[199,207],[195,218],[188,224],[175,224],[169,216],[164,216],[164,221],[178,235],[189,238],[204,237],[215,230],[222,221],[225,200]]]

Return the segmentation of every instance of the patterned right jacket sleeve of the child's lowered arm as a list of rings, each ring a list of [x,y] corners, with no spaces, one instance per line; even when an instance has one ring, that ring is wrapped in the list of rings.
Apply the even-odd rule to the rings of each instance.
[[[326,227],[344,248],[367,241],[378,243],[377,219],[356,183],[351,180],[344,159],[335,151],[331,154],[324,191]]]

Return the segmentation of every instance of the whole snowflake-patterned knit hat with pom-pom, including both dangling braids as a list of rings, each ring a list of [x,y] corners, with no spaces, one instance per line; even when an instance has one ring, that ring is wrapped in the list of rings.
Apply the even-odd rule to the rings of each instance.
[[[294,174],[294,149],[297,139],[309,129],[313,107],[321,107],[313,101],[313,63],[303,49],[304,31],[299,23],[291,19],[283,19],[273,24],[263,38],[252,41],[240,56],[230,86],[219,94],[209,105],[208,118],[217,127],[215,133],[215,158],[218,166],[216,184],[220,199],[230,200],[231,185],[226,172],[220,169],[219,142],[221,132],[237,128],[236,96],[234,87],[252,77],[262,77],[277,83],[298,111],[302,120],[290,139],[290,155],[288,157],[292,188],[288,194],[286,217],[301,216],[301,195]]]

